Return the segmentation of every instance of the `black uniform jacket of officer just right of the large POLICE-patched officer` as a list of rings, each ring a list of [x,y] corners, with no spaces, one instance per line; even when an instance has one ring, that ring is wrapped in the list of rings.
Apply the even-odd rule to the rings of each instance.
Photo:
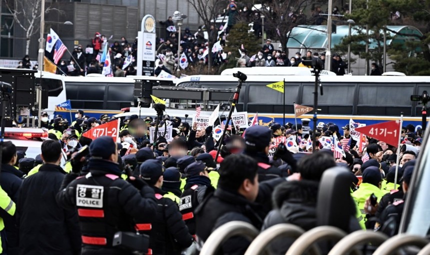
[[[155,220],[136,224],[136,229],[149,235],[149,254],[180,255],[181,251],[192,244],[193,238],[182,220],[177,204],[164,198],[166,192],[152,187],[157,200]]]

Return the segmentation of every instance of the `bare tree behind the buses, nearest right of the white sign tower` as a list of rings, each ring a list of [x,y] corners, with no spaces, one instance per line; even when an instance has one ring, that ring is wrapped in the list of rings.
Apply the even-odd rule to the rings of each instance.
[[[187,0],[189,4],[194,7],[200,19],[203,21],[204,27],[207,31],[207,43],[208,43],[208,72],[211,70],[212,65],[212,47],[218,39],[218,29],[216,27],[216,17],[223,8],[225,8],[225,2],[219,0]],[[226,27],[224,27],[225,29]],[[179,53],[178,53],[179,54]]]

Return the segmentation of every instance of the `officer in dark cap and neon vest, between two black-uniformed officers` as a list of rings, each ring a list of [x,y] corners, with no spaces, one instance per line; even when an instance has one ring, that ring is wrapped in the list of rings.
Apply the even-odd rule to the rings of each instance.
[[[169,198],[176,204],[180,203],[180,173],[176,167],[169,167],[163,173],[163,183],[161,189],[166,193],[164,198]]]

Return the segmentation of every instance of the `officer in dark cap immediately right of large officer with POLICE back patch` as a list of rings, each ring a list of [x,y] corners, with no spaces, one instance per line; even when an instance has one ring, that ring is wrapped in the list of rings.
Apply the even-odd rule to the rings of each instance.
[[[149,184],[157,200],[155,221],[137,224],[144,234],[149,234],[149,249],[154,255],[180,255],[181,251],[192,244],[193,238],[182,220],[177,204],[165,198],[162,163],[149,159],[140,166],[140,178]]]

